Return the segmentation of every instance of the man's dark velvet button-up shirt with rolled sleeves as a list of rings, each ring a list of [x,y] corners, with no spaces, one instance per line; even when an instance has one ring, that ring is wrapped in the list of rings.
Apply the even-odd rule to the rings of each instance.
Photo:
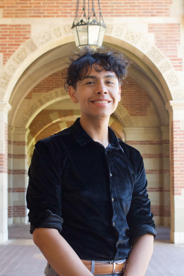
[[[30,232],[55,228],[87,260],[126,259],[156,236],[143,158],[109,128],[107,148],[75,123],[36,143],[27,190]]]

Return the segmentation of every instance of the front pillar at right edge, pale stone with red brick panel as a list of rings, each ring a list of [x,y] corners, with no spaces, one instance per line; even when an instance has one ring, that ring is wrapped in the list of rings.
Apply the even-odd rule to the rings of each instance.
[[[184,101],[170,101],[171,242],[184,243]]]

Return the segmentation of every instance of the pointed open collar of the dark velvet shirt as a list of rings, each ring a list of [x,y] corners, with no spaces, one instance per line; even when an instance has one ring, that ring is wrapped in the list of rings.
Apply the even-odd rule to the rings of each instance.
[[[121,149],[121,146],[119,144],[116,134],[109,127],[108,127],[108,131],[109,131],[109,146],[106,148],[106,150],[111,151],[113,149],[116,149],[116,150]],[[77,118],[75,123],[71,126],[71,132],[75,140],[80,146],[83,146],[86,143],[93,141],[93,139],[86,133],[86,131],[80,125],[80,118]]]

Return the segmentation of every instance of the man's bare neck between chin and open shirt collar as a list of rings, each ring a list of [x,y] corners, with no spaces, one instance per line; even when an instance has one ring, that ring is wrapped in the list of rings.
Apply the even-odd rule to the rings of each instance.
[[[96,142],[102,144],[105,148],[109,144],[107,118],[89,118],[81,114],[80,125],[86,133]]]

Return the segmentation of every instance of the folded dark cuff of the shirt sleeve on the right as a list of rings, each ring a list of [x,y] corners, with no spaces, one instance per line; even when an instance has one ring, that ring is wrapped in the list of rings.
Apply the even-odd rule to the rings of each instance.
[[[148,225],[148,224],[135,225],[133,228],[129,229],[128,231],[130,244],[132,244],[133,240],[145,234],[151,234],[154,236],[154,238],[156,237],[156,231],[151,225]]]

